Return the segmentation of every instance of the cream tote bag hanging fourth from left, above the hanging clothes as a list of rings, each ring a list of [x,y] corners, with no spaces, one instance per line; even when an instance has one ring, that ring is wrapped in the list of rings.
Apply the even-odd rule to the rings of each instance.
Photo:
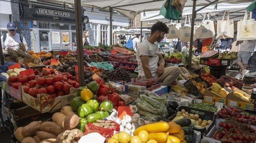
[[[217,21],[217,39],[234,38],[234,21],[229,19],[229,11],[227,11],[227,20],[224,20],[226,11],[222,20]]]

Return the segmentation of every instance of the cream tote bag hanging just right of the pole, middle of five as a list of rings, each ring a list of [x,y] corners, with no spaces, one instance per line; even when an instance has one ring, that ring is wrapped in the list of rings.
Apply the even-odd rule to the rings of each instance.
[[[207,39],[207,38],[212,38],[215,35],[214,23],[212,20],[209,20],[209,13],[207,15],[208,15],[207,20],[205,20],[206,18],[206,14],[205,14],[205,16],[203,17],[203,21],[196,23],[196,30],[195,30],[196,38]]]

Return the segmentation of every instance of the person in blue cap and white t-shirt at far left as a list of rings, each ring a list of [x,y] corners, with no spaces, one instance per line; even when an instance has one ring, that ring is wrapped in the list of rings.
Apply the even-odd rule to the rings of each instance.
[[[28,44],[25,38],[19,33],[16,33],[16,29],[17,28],[13,22],[7,23],[8,33],[1,36],[3,53],[7,53],[7,48],[12,48],[16,50],[19,47],[19,43],[21,43],[22,41],[25,45],[26,50],[28,49]]]

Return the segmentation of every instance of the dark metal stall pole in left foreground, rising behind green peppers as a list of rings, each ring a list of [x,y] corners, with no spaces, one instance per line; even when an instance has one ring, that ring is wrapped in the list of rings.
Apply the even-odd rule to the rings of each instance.
[[[85,86],[84,76],[84,52],[82,38],[82,15],[81,15],[81,0],[74,0],[75,4],[75,30],[77,31],[77,56],[78,56],[78,75],[79,86]]]

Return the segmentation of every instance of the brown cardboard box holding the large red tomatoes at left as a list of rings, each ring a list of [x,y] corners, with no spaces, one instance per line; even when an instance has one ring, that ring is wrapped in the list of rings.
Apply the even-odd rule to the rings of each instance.
[[[21,87],[23,102],[40,113],[46,113],[52,110],[57,110],[69,104],[73,98],[77,96],[77,89],[71,88],[69,95],[64,95],[56,98],[48,98],[47,94],[37,94],[37,98],[24,93],[24,86]]]

